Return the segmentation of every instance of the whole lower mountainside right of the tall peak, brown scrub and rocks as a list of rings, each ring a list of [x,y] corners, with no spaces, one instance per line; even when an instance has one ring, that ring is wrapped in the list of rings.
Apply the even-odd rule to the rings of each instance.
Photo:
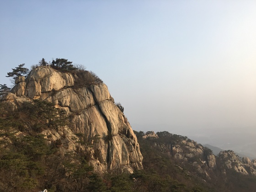
[[[248,192],[256,187],[256,160],[240,158],[232,150],[215,156],[211,149],[166,131],[134,132],[146,173],[155,171],[170,178],[168,187],[176,187],[163,191]]]

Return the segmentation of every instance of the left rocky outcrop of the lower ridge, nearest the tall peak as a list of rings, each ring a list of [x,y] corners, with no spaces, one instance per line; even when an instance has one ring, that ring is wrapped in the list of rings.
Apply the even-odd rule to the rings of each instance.
[[[203,180],[211,179],[209,175],[216,168],[215,156],[212,154],[205,155],[205,149],[201,144],[197,144],[187,137],[166,132],[156,136],[157,134],[153,131],[149,131],[142,138],[154,138],[154,147],[158,147],[162,153],[175,159],[181,166],[192,165],[197,175],[200,175]]]

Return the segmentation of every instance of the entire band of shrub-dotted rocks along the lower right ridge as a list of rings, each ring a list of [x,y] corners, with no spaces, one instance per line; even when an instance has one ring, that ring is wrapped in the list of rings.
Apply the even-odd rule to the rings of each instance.
[[[240,158],[232,150],[221,151],[215,156],[210,149],[187,137],[161,132],[159,137],[153,137],[154,135],[156,135],[154,132],[147,132],[142,138],[154,139],[154,147],[158,147],[162,153],[177,160],[181,163],[180,165],[192,165],[197,170],[197,175],[205,181],[211,180],[211,176],[216,177],[216,171],[221,171],[226,175],[227,171],[233,170],[242,175],[256,176],[256,160],[251,161],[247,157]],[[166,135],[169,137],[164,139],[163,143],[163,136]]]

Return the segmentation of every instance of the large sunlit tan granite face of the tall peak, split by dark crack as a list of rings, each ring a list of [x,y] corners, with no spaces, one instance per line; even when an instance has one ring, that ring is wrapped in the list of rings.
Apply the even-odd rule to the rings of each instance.
[[[142,155],[137,138],[123,112],[115,105],[107,85],[76,86],[77,75],[55,69],[36,68],[27,78],[20,77],[5,97],[14,107],[33,99],[53,102],[64,109],[71,126],[58,131],[45,130],[50,142],[62,141],[64,151],[84,150],[95,170],[133,172],[142,169]],[[82,133],[87,145],[78,146],[75,133]],[[48,136],[51,137],[48,137]]]

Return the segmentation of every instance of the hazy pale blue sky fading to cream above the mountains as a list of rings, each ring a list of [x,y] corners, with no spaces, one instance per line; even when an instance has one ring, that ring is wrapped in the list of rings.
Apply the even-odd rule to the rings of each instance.
[[[256,128],[255,0],[0,0],[0,84],[65,58],[135,130]]]

